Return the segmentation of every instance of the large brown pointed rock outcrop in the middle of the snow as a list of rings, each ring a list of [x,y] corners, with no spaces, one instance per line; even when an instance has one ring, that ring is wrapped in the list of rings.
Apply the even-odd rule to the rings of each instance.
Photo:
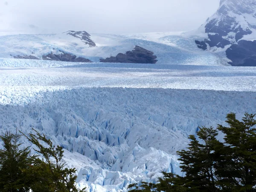
[[[143,64],[155,64],[157,56],[154,52],[148,51],[140,46],[135,46],[132,51],[127,51],[125,54],[119,53],[116,57],[100,59],[100,62],[104,63],[143,63]]]

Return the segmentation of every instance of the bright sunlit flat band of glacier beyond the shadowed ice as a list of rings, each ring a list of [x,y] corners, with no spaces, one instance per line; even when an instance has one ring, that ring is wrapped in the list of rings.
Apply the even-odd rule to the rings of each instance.
[[[38,60],[3,59],[0,66],[9,61],[17,67],[1,68],[1,84],[9,87],[27,85],[35,87],[131,87],[131,88],[172,88],[204,90],[256,90],[255,67],[224,67],[170,64],[74,64],[47,61],[51,65],[38,68],[30,63]],[[6,62],[6,61],[7,62]],[[20,61],[29,63],[21,65]],[[39,61],[38,61],[39,62]],[[39,62],[40,63],[40,62]],[[37,64],[35,62],[35,64]],[[49,66],[59,66],[51,68]],[[62,67],[60,67],[62,66]],[[9,77],[9,78],[8,78]]]

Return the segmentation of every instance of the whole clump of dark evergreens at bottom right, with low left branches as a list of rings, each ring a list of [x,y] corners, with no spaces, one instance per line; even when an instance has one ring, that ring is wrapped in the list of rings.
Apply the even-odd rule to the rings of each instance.
[[[133,192],[256,192],[256,120],[245,113],[242,121],[235,113],[227,114],[228,127],[218,131],[202,127],[198,139],[190,135],[189,147],[178,151],[185,177],[162,172],[157,184],[132,184]]]

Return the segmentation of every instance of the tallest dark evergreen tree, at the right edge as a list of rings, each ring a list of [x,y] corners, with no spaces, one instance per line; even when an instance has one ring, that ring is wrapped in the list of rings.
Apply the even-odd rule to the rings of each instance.
[[[256,191],[256,120],[253,114],[245,113],[242,121],[235,113],[227,114],[228,127],[218,125],[225,134],[224,161],[218,175],[221,182],[232,191]]]

